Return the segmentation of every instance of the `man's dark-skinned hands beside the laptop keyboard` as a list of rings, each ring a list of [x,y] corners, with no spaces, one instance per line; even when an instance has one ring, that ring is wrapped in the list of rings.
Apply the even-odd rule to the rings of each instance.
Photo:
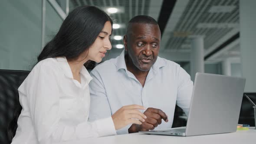
[[[141,125],[132,124],[131,127],[128,129],[129,133],[135,133],[138,131],[148,131],[154,130],[158,126],[158,124],[162,123],[162,119],[165,122],[168,122],[167,115],[161,110],[157,108],[148,108],[144,115],[147,116],[144,122]]]

